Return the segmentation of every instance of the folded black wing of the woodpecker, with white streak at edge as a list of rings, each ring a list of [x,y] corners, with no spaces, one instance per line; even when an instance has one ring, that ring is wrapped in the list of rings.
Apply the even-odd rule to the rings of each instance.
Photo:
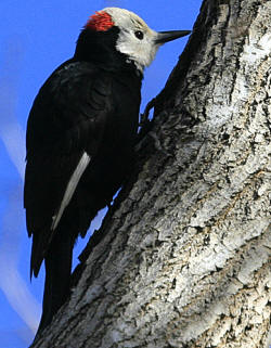
[[[24,205],[35,276],[65,209],[63,198],[73,195],[67,192],[70,178],[86,169],[99,149],[113,112],[111,92],[108,74],[70,61],[51,75],[34,102],[27,124]]]

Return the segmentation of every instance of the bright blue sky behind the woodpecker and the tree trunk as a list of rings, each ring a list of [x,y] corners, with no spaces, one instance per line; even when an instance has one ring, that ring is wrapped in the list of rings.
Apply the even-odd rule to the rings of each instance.
[[[80,28],[94,11],[125,8],[153,29],[191,29],[201,0],[20,1],[0,3],[0,346],[27,347],[39,321],[43,270],[29,281],[30,240],[25,229],[25,129],[33,100],[52,70],[74,53]],[[186,38],[163,47],[146,69],[142,111],[164,87]],[[90,228],[99,227],[102,214]],[[89,236],[89,235],[88,235]],[[76,256],[87,243],[79,241]]]

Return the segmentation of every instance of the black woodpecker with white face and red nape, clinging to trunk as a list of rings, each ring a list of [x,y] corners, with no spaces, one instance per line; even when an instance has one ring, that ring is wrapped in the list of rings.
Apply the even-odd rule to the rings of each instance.
[[[131,167],[143,70],[163,43],[189,34],[157,33],[128,10],[105,8],[39,90],[27,121],[24,188],[30,278],[46,265],[38,335],[69,294],[76,239]]]

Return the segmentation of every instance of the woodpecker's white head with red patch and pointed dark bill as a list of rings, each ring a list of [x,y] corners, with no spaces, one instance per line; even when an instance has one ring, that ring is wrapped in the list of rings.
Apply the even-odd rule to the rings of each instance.
[[[109,33],[117,29],[115,49],[125,54],[143,72],[155,57],[158,48],[168,41],[189,35],[190,30],[157,33],[151,29],[137,14],[118,8],[105,8],[92,15],[85,30]]]

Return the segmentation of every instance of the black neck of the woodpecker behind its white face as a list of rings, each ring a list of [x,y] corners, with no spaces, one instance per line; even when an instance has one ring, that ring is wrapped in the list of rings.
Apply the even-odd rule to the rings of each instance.
[[[116,27],[107,31],[83,29],[77,40],[74,60],[91,62],[107,70],[127,70],[142,78],[143,75],[134,62],[116,50],[117,38]]]

